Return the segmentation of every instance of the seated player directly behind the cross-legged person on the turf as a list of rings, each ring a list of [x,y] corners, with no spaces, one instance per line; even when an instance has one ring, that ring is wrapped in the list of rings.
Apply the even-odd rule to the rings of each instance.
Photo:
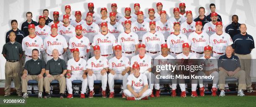
[[[151,56],[146,54],[145,44],[139,44],[138,45],[138,55],[133,56],[131,58],[131,66],[130,67],[132,67],[134,63],[138,63],[139,66],[141,66],[140,73],[147,76],[148,82],[150,83],[149,89],[153,90],[154,78],[151,77],[151,75],[153,76],[153,73],[151,73],[151,66],[152,66],[151,60],[152,60]],[[131,71],[130,74],[134,73],[132,68],[130,69],[130,71]],[[151,83],[151,81],[152,81],[152,83]],[[151,93],[150,97],[154,97],[153,92]]]

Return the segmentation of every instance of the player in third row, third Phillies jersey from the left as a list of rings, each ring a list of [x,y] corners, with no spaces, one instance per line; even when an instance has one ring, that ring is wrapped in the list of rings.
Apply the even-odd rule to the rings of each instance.
[[[86,24],[82,24],[82,35],[89,39],[90,45],[92,45],[94,36],[100,33],[100,27],[95,22],[92,22],[92,20],[92,13],[88,12],[86,14]],[[87,52],[87,58],[92,56],[94,55],[93,49],[91,48],[90,51]]]

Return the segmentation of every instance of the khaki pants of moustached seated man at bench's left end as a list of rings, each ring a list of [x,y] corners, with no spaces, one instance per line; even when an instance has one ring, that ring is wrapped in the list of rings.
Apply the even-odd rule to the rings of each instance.
[[[38,78],[37,75],[27,75],[25,79],[21,79],[21,84],[22,84],[22,92],[28,92],[28,80],[37,80],[38,81],[38,88],[39,92],[43,92],[43,87],[44,87],[44,78]]]

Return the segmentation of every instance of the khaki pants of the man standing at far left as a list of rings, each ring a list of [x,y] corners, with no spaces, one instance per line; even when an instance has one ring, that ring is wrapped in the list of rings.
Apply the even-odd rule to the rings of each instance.
[[[20,85],[20,62],[8,62],[5,63],[5,94],[10,95],[11,79],[14,79],[15,89],[17,94],[21,93]]]

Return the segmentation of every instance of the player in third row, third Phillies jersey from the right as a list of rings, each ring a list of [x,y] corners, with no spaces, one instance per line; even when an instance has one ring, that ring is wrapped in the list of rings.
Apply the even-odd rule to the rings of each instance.
[[[160,19],[156,22],[156,31],[161,32],[164,35],[164,40],[167,40],[167,37],[170,36],[173,30],[173,23],[166,19],[166,11],[162,10],[160,12]]]

